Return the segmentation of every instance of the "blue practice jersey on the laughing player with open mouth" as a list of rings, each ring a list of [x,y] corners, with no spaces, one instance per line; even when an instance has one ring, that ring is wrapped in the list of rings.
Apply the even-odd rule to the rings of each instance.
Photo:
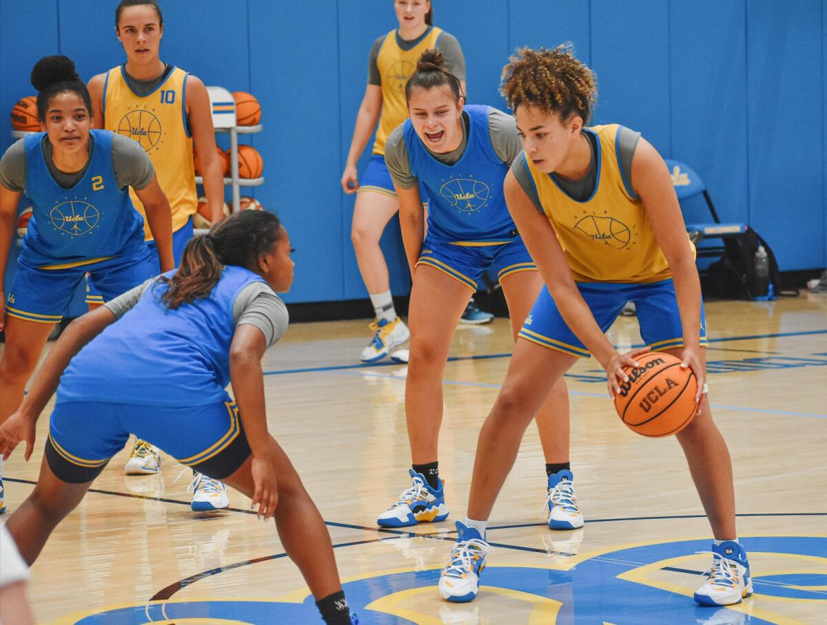
[[[504,244],[515,236],[505,206],[503,181],[509,165],[491,144],[490,107],[468,105],[468,142],[461,159],[446,165],[434,159],[410,120],[404,122],[411,174],[428,192],[428,237],[455,244]]]

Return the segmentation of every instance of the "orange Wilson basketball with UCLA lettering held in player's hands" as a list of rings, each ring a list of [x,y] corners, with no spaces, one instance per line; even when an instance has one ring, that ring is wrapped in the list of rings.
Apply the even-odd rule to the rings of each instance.
[[[695,374],[667,353],[650,352],[635,360],[640,366],[624,367],[629,381],[614,395],[620,419],[643,436],[669,436],[686,428],[697,410]]]

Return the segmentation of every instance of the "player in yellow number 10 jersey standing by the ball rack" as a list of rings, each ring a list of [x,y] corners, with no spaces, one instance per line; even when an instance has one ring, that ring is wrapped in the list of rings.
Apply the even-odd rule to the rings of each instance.
[[[194,151],[198,152],[213,223],[223,217],[223,173],[215,148],[207,88],[199,78],[160,59],[164,17],[156,0],[122,0],[115,10],[115,34],[127,54],[127,62],[89,81],[95,124],[131,137],[150,155],[160,187],[170,198],[177,266],[184,246],[193,237],[193,215],[198,209]],[[134,194],[132,201],[142,212],[143,206]],[[153,249],[149,230],[146,239]],[[86,301],[90,306],[103,304],[92,282],[88,284]],[[136,441],[125,468],[127,474],[159,470],[157,449]],[[228,505],[222,484],[200,474],[194,476],[193,509]]]

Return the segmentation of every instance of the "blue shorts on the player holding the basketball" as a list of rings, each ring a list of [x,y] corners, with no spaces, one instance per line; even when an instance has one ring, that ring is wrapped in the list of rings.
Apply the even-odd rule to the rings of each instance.
[[[677,307],[672,278],[648,284],[619,284],[616,282],[578,282],[581,296],[591,314],[604,332],[618,318],[626,302],[633,301],[640,324],[640,336],[653,351],[683,346],[681,312]],[[519,336],[543,347],[557,349],[573,356],[591,356],[563,320],[546,286],[526,318]],[[706,347],[706,318],[704,303],[700,302],[700,345]]]

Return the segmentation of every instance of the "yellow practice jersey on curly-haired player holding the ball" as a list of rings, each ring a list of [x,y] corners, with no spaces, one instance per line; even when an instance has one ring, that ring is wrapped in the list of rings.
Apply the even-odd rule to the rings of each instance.
[[[624,182],[616,151],[619,128],[611,124],[584,129],[598,139],[597,183],[586,201],[572,199],[525,159],[576,282],[657,282],[672,277],[643,202]]]

